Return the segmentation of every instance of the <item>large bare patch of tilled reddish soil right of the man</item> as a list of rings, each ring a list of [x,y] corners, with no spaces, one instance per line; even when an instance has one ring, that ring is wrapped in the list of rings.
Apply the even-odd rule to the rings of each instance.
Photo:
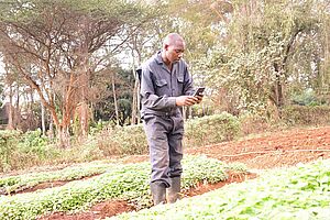
[[[227,163],[241,162],[249,168],[293,166],[330,157],[330,127],[293,129],[198,148],[186,154],[205,154]]]

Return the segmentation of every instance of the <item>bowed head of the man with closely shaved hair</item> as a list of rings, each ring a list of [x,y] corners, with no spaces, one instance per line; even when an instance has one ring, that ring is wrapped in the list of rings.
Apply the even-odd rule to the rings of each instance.
[[[178,62],[185,52],[184,38],[177,33],[168,34],[163,42],[162,57],[166,64]]]

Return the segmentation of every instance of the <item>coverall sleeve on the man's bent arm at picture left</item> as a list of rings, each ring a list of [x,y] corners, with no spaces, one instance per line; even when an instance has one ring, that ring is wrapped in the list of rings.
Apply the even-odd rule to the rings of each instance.
[[[153,74],[147,68],[141,69],[141,102],[151,110],[164,110],[176,107],[176,98],[155,94]]]

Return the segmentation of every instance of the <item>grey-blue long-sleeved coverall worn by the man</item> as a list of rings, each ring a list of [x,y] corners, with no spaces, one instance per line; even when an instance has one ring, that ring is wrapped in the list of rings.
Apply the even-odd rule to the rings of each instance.
[[[170,186],[170,178],[183,173],[184,120],[176,97],[193,95],[193,78],[187,64],[180,59],[172,72],[161,52],[145,62],[141,69],[141,117],[150,146],[151,184]]]

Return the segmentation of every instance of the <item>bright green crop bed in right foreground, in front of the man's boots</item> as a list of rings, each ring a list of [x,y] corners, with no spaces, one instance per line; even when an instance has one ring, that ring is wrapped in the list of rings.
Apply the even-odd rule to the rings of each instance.
[[[271,170],[261,178],[108,219],[328,219],[330,160],[289,169]]]

